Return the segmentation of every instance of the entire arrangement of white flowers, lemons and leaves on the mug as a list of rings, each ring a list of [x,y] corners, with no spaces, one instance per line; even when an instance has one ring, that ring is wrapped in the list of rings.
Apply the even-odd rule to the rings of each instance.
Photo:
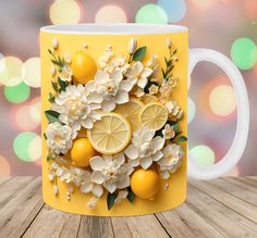
[[[53,193],[62,196],[58,184],[65,183],[69,201],[75,188],[91,193],[89,208],[106,193],[109,210],[123,199],[154,200],[160,179],[170,178],[184,155],[183,110],[171,100],[176,49],[168,38],[160,68],[157,55],[145,59],[147,47],[138,48],[136,38],[127,55],[115,55],[109,45],[98,63],[86,49],[57,55],[58,45],[54,38],[48,50],[52,91],[44,133]]]

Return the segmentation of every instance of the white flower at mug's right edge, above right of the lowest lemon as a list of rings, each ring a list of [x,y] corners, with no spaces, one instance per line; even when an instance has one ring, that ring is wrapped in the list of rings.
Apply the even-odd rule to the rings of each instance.
[[[163,179],[168,179],[170,174],[174,173],[182,163],[184,155],[183,149],[176,143],[170,143],[162,150],[163,158],[157,163],[160,167],[160,175]]]

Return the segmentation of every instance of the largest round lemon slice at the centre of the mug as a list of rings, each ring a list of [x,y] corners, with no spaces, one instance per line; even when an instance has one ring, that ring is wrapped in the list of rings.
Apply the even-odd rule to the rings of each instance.
[[[119,153],[131,140],[131,126],[122,115],[106,113],[87,130],[87,138],[91,147],[100,153]]]

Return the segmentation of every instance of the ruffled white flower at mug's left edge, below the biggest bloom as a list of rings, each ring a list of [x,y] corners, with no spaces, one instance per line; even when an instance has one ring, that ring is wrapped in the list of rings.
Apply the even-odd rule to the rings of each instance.
[[[72,128],[68,125],[60,125],[60,123],[51,123],[46,129],[47,145],[56,154],[66,154],[72,148],[72,139],[74,134]]]

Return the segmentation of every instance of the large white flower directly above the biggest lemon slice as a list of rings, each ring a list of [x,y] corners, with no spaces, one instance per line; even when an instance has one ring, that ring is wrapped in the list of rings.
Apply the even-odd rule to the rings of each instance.
[[[123,80],[121,71],[113,71],[111,74],[105,71],[97,71],[95,76],[96,93],[102,97],[101,108],[103,112],[111,112],[117,104],[128,102],[128,92],[133,85]]]

